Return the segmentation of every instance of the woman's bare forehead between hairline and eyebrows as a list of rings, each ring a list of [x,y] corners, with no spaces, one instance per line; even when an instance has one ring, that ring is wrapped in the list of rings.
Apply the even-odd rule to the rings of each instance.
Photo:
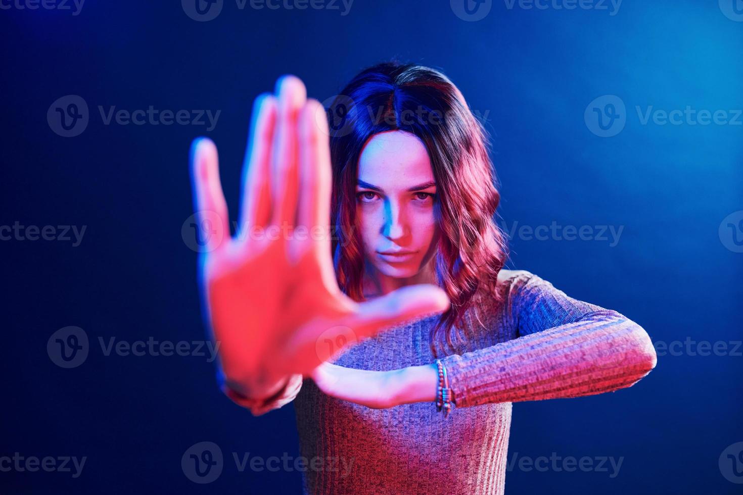
[[[361,151],[358,175],[360,180],[385,190],[434,180],[426,146],[405,131],[374,134]]]

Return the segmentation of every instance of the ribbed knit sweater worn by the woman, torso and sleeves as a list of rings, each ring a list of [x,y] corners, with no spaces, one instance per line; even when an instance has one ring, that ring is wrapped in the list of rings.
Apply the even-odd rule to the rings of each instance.
[[[630,387],[656,355],[634,321],[531,272],[502,270],[498,290],[503,302],[478,297],[456,329],[455,348],[439,356],[456,399],[447,419],[434,402],[370,409],[335,399],[301,375],[269,399],[230,397],[255,416],[293,401],[309,461],[305,494],[503,494],[512,402]],[[391,327],[331,362],[374,371],[432,364],[437,318]]]

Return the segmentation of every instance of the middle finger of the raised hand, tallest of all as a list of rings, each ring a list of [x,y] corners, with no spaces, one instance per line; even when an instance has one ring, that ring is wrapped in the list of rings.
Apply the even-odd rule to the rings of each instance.
[[[293,226],[296,221],[297,193],[297,132],[296,119],[305,104],[307,90],[296,76],[282,76],[276,82],[279,94],[278,120],[273,148],[272,223]]]

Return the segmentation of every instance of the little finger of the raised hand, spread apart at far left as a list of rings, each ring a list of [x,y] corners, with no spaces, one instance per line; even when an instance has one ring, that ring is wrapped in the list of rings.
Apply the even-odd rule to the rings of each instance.
[[[217,147],[207,137],[195,139],[189,160],[196,227],[202,241],[199,246],[204,251],[212,251],[230,237],[230,217],[219,180]]]

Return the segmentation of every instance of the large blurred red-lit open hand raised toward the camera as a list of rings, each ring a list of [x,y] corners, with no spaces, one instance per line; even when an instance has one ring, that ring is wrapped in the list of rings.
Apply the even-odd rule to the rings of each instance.
[[[357,303],[340,291],[331,257],[331,162],[325,111],[295,76],[256,99],[230,235],[214,143],[192,145],[201,295],[229,387],[262,396],[288,375],[310,376],[348,345],[449,306],[433,285]],[[202,237],[203,238],[203,237]]]

